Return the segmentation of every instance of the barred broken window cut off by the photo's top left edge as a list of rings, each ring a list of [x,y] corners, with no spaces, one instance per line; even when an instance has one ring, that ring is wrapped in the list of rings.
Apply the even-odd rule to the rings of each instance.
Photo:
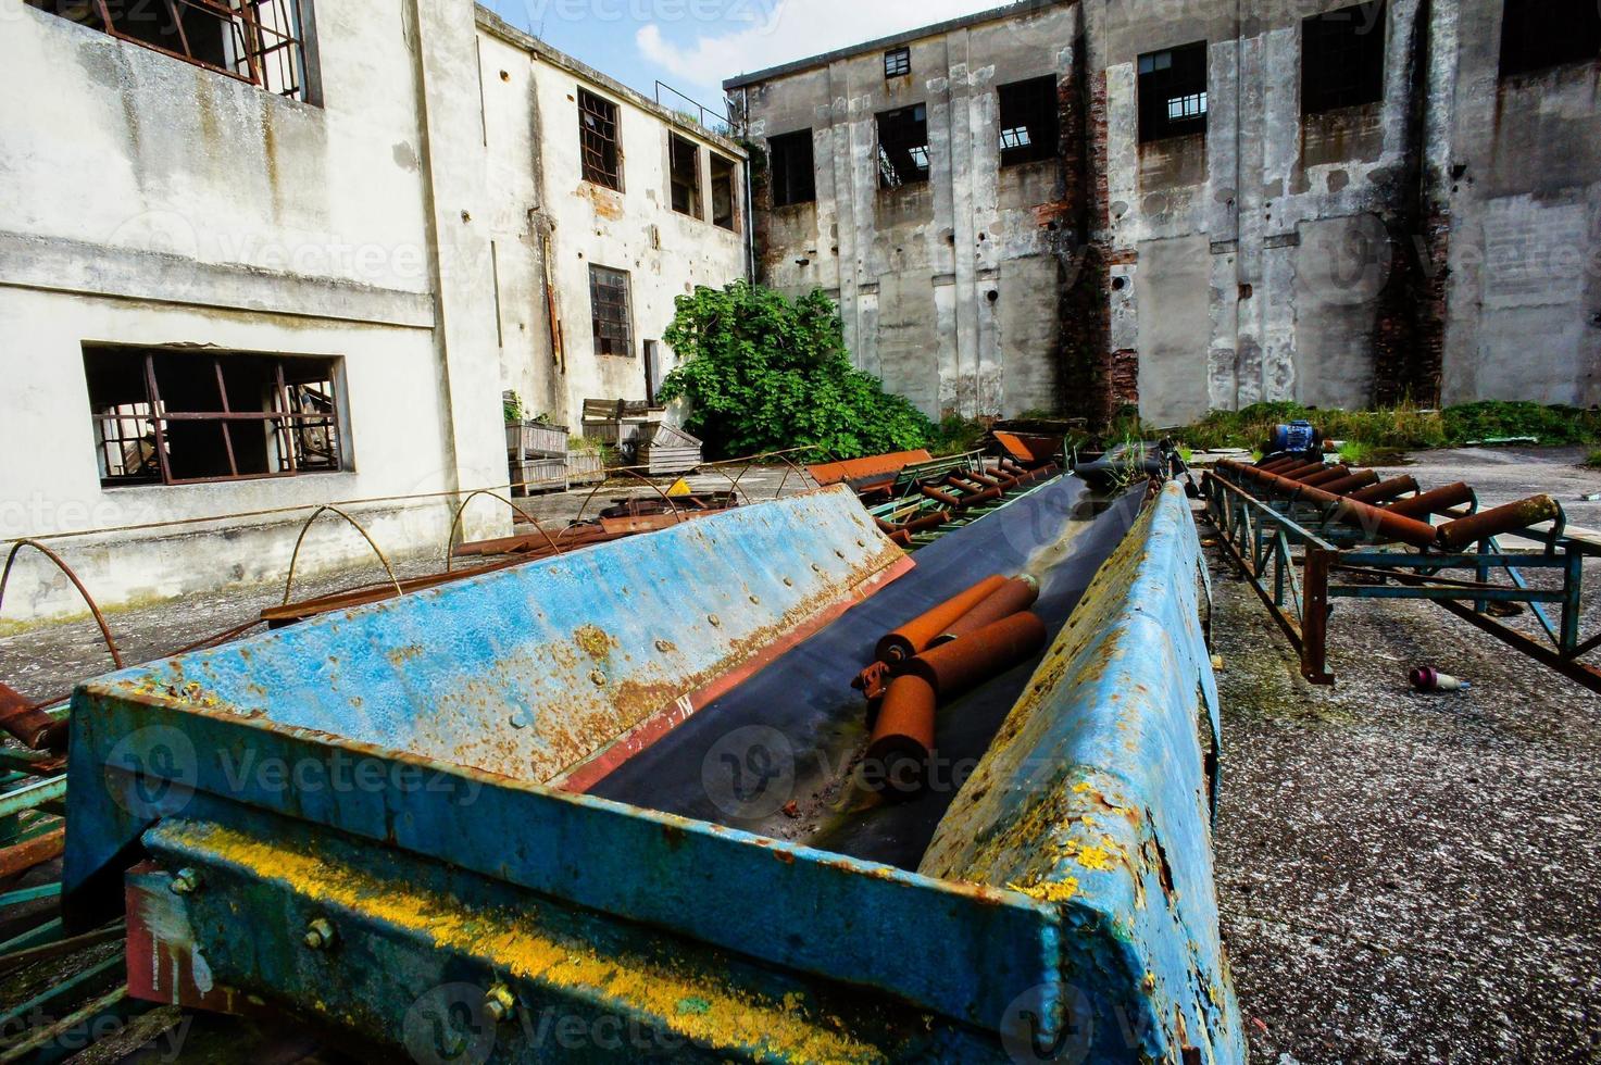
[[[304,0],[27,0],[207,70],[307,99]]]

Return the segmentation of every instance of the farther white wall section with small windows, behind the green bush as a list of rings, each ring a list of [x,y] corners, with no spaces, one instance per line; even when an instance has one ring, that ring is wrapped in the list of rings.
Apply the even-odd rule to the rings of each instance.
[[[644,399],[644,343],[660,341],[674,298],[746,275],[744,152],[479,11],[490,218],[500,272],[501,372],[530,412],[573,428],[584,399]],[[583,179],[578,86],[620,106],[623,191]],[[672,210],[668,136],[700,146],[704,218]],[[735,162],[735,229],[711,223],[711,155]],[[532,167],[530,167],[532,162]],[[551,349],[543,247],[549,245],[565,373]],[[596,354],[589,266],[628,271],[632,357]],[[661,344],[661,372],[676,365]],[[660,380],[660,378],[658,378]]]

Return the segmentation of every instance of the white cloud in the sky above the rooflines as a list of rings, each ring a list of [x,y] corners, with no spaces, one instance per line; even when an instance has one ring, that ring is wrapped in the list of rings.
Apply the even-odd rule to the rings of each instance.
[[[722,82],[794,59],[849,48],[890,34],[1002,6],[1004,0],[746,0],[730,21],[743,29],[703,34],[687,45],[647,24],[634,35],[639,51],[680,78],[703,102],[722,99]]]

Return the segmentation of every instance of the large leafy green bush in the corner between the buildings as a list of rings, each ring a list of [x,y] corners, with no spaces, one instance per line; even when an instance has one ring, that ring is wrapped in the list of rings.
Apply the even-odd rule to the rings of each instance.
[[[834,458],[924,447],[933,424],[884,383],[850,365],[833,301],[796,301],[760,285],[696,288],[674,301],[663,340],[684,364],[663,399],[692,404],[687,429],[716,456],[807,444]]]

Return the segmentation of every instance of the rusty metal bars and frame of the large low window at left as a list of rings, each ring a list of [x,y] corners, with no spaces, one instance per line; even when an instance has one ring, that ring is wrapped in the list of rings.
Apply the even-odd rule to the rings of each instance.
[[[85,344],[85,360],[91,356],[106,354],[109,357],[115,344]],[[205,359],[199,352],[187,352],[173,348],[144,349],[138,357],[142,376],[142,399],[136,402],[96,404],[90,396],[90,418],[94,426],[94,448],[101,468],[101,487],[120,487],[133,484],[191,485],[219,484],[227,480],[264,480],[271,477],[293,477],[314,472],[341,472],[346,469],[343,458],[343,428],[339,418],[339,367],[333,357],[311,356],[272,356],[264,352],[207,352],[208,380],[216,381],[218,405],[221,410],[171,410],[162,397],[160,375],[155,359],[162,354],[178,354],[192,357],[197,364]],[[272,391],[266,402],[267,410],[235,410],[229,400],[224,364],[229,356],[250,356],[263,359],[272,370]],[[293,367],[291,375],[285,367]],[[312,380],[301,380],[306,370],[320,370],[311,375]],[[327,384],[327,392],[315,388]],[[91,384],[93,388],[93,384]],[[237,396],[235,396],[237,399]],[[210,477],[181,477],[173,472],[171,436],[173,423],[215,424],[223,440],[223,455],[227,460],[229,472]],[[269,429],[272,448],[266,452],[266,464],[277,461],[277,471],[245,471],[240,472],[239,455],[234,447],[234,431],[251,424]],[[149,426],[146,432],[144,426]],[[117,461],[114,463],[114,455]],[[114,472],[120,466],[120,472]]]

